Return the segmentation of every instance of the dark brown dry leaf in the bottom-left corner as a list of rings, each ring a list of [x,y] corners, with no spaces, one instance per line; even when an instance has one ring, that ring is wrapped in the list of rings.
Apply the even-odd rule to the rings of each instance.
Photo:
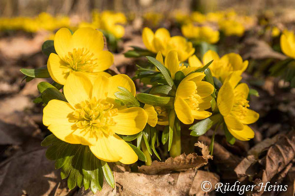
[[[0,196],[48,196],[61,181],[44,148],[11,157],[0,164]],[[53,194],[52,194],[53,195]]]

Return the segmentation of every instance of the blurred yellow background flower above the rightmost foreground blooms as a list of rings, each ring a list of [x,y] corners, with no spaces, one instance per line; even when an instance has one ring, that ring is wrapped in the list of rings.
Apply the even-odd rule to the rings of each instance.
[[[226,36],[236,35],[241,37],[244,34],[244,26],[235,20],[222,20],[219,22],[219,28]]]

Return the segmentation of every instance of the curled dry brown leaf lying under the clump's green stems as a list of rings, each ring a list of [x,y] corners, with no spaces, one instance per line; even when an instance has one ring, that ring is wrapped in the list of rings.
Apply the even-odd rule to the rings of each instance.
[[[201,168],[208,163],[208,159],[212,159],[209,150],[203,143],[197,143],[196,146],[202,148],[202,156],[197,153],[186,155],[185,153],[175,157],[168,158],[165,162],[153,161],[150,166],[141,166],[138,171],[146,174],[163,174],[173,171],[184,171],[190,168]]]

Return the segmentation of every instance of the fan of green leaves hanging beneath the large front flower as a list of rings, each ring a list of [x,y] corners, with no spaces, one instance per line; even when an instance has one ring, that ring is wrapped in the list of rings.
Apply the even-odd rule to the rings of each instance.
[[[41,146],[48,147],[46,157],[55,161],[61,178],[67,178],[69,189],[84,185],[86,190],[90,187],[95,194],[102,189],[103,176],[111,187],[115,187],[110,167],[106,162],[97,159],[88,146],[63,142],[53,134],[47,136]]]

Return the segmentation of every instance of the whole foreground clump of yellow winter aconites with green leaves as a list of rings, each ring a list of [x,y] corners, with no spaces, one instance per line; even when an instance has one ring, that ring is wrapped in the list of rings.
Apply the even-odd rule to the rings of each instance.
[[[104,15],[113,25],[124,21],[120,15]],[[100,17],[100,27],[110,33],[112,29],[104,26],[108,17]],[[48,147],[46,156],[55,161],[70,189],[84,186],[95,193],[102,189],[104,178],[114,188],[109,163],[136,168],[151,165],[153,158],[177,157],[187,129],[194,137],[215,126],[211,153],[219,128],[230,144],[254,137],[248,124],[256,122],[259,114],[249,109],[251,91],[240,83],[248,66],[240,55],[220,58],[210,49],[200,55],[186,38],[171,36],[165,28],[153,32],[146,27],[142,34],[146,49],[134,46],[125,53],[146,56],[132,78],[143,85],[136,91],[129,76],[109,70],[114,56],[104,50],[103,33],[89,26],[74,32],[59,29],[54,40],[42,46],[49,56],[47,65],[21,70],[27,82],[53,80],[38,84],[40,96],[34,102],[43,104],[43,124],[52,133],[42,142]],[[183,31],[190,31],[188,27]],[[200,37],[191,37],[195,41],[213,44],[219,39],[212,29],[196,31]],[[214,39],[208,40],[211,34]]]

